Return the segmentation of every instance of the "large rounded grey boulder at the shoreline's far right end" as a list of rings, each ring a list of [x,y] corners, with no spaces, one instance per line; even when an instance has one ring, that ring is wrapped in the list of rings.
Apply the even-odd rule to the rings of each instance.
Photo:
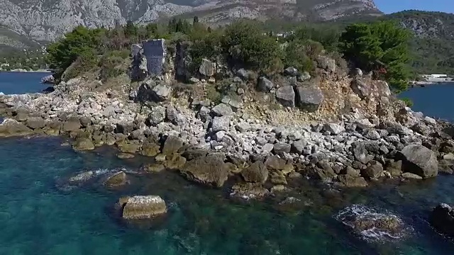
[[[438,161],[436,154],[423,145],[407,145],[400,152],[403,160],[404,172],[417,174],[424,179],[438,175]]]

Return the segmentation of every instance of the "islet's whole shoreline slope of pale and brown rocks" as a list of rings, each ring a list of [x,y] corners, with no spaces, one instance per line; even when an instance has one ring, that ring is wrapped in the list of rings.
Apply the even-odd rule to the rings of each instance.
[[[183,53],[165,59],[174,69],[152,76],[136,51],[131,77],[143,77],[136,85],[78,77],[50,94],[0,96],[0,137],[69,135],[76,150],[115,145],[118,157],[155,157],[149,171],[177,169],[215,187],[236,176],[231,196],[240,198],[285,191],[304,177],[365,187],[453,172],[450,124],[404,107],[386,83],[360,70],[348,76],[321,56],[319,78],[289,67],[275,79],[254,79],[204,60],[192,85],[177,85]],[[215,103],[206,91],[216,82],[230,85]]]

